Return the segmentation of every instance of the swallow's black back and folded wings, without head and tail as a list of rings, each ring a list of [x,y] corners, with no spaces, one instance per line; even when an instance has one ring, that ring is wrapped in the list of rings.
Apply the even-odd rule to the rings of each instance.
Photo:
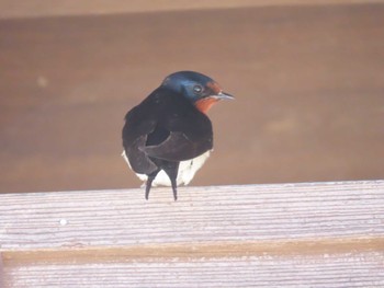
[[[154,158],[183,161],[213,147],[211,120],[169,91],[153,93],[125,119],[123,146],[136,173],[154,172]]]

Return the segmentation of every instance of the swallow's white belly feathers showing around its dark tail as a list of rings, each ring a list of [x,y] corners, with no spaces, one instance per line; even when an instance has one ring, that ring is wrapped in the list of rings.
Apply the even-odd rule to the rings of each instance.
[[[178,186],[179,185],[188,185],[191,182],[191,180],[193,178],[196,171],[199,169],[201,169],[202,165],[204,164],[204,162],[206,161],[206,159],[208,159],[210,153],[211,153],[211,151],[206,151],[205,153],[203,153],[194,159],[180,162],[179,171],[178,171],[178,178],[177,178]],[[126,161],[126,163],[131,168],[129,160],[126,157],[124,150],[123,150],[122,157],[124,158],[124,160]],[[144,182],[147,181],[146,174],[137,174],[136,173],[136,175],[142,181],[144,181]],[[161,170],[157,174],[156,178],[153,182],[153,186],[171,186],[171,182],[170,182],[170,180],[165,171]]]

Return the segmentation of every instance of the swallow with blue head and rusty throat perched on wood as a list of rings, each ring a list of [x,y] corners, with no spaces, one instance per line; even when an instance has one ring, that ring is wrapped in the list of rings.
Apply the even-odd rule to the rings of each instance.
[[[212,78],[195,71],[169,74],[160,87],[125,115],[123,158],[151,186],[188,185],[213,149],[206,113],[221,100],[233,100]]]

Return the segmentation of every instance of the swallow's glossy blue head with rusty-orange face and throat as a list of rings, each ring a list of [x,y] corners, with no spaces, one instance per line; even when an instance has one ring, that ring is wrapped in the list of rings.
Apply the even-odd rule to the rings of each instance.
[[[181,93],[203,113],[219,100],[234,99],[233,95],[223,92],[213,79],[193,71],[172,73],[162,81],[161,85]]]

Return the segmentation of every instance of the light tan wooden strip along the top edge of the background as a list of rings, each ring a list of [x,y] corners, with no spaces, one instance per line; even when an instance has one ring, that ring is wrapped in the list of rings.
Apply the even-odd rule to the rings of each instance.
[[[191,9],[228,9],[266,5],[324,5],[355,3],[383,3],[383,0],[66,0],[63,2],[46,0],[29,0],[24,2],[15,2],[13,0],[2,0],[0,1],[0,19],[100,15],[132,12],[161,12]]]

